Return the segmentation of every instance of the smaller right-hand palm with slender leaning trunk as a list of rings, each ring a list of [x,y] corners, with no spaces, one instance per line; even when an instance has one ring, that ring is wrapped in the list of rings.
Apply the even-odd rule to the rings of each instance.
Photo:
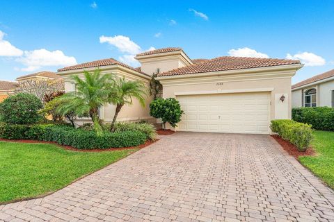
[[[116,122],[118,113],[123,105],[132,105],[132,99],[138,99],[141,105],[145,106],[145,96],[148,92],[145,85],[139,81],[125,80],[125,78],[117,78],[113,85],[113,92],[109,96],[109,101],[116,105],[115,115],[111,123],[111,130]]]

